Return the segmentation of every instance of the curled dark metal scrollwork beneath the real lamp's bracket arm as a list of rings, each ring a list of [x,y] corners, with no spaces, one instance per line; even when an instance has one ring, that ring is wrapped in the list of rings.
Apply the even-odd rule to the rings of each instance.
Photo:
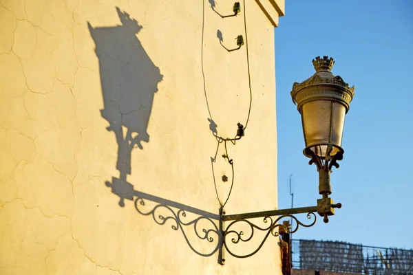
[[[294,228],[291,227],[291,226],[286,227],[285,225],[279,224],[278,222],[279,222],[281,219],[284,219],[284,218],[292,218],[292,219],[294,219],[295,222],[296,222],[296,223],[295,223],[295,224],[296,224],[295,227],[294,227]],[[304,224],[304,223],[301,223],[301,221],[299,221],[299,220],[298,220],[295,216],[293,216],[292,214],[284,214],[284,215],[282,215],[282,216],[277,217],[277,219],[275,219],[275,220],[273,220],[273,218],[271,218],[271,217],[264,217],[264,220],[263,220],[264,223],[269,223],[268,227],[264,227],[264,228],[262,228],[262,227],[260,227],[260,226],[257,226],[257,225],[255,225],[254,223],[251,223],[251,221],[248,221],[248,220],[246,220],[246,219],[239,219],[239,220],[232,221],[232,222],[226,227],[226,230],[224,230],[224,232],[223,232],[223,243],[224,243],[226,252],[228,252],[229,254],[231,254],[232,256],[234,256],[234,257],[236,257],[236,258],[248,258],[249,256],[253,256],[253,254],[257,253],[258,250],[260,250],[260,249],[262,248],[262,245],[264,245],[264,242],[266,241],[266,239],[268,238],[268,236],[269,236],[270,233],[271,233],[273,236],[278,236],[278,235],[279,235],[279,232],[278,232],[278,230],[277,230],[278,228],[284,228],[284,230],[286,230],[286,233],[292,234],[292,233],[294,233],[294,232],[296,232],[296,231],[298,230],[298,228],[299,228],[300,225],[303,226],[303,227],[305,227],[305,228],[309,228],[309,227],[315,225],[315,223],[316,223],[316,221],[317,221],[317,216],[316,216],[313,212],[309,212],[309,213],[307,214],[307,218],[308,218],[308,219],[314,218],[314,221],[313,221],[312,223],[310,223],[310,224]],[[237,223],[244,223],[244,224],[246,224],[246,225],[249,225],[249,228],[250,228],[251,230],[248,230],[248,231],[250,231],[251,233],[248,234],[247,236],[245,236],[245,235],[244,235],[244,234],[245,234],[244,231],[231,230],[231,227],[233,227],[233,225],[235,225],[235,224],[237,224]],[[242,242],[248,242],[248,241],[251,241],[251,239],[253,239],[254,230],[260,230],[260,231],[263,231],[263,232],[266,231],[266,234],[265,234],[265,236],[264,236],[264,239],[262,239],[260,245],[258,246],[258,248],[257,248],[256,250],[254,250],[254,251],[251,252],[250,254],[244,254],[244,255],[237,255],[237,254],[231,252],[231,250],[229,249],[228,245],[226,244],[226,238],[227,238],[227,236],[229,236],[229,235],[233,236],[233,238],[231,239],[231,243],[237,244],[237,243],[240,243],[240,241],[242,241]]]

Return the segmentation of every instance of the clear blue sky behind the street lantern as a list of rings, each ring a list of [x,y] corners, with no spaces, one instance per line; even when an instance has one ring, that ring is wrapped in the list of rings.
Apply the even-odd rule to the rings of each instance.
[[[312,59],[326,55],[335,58],[332,73],[356,86],[344,158],[331,175],[331,197],[343,208],[294,239],[413,249],[412,14],[410,0],[286,0],[275,29],[279,208],[290,207],[290,174],[295,207],[320,197],[317,169],[302,154],[293,83],[313,75]]]

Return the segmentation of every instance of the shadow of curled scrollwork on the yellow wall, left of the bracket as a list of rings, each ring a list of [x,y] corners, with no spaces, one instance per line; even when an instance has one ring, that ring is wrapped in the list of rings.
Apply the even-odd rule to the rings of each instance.
[[[185,210],[182,209],[178,209],[177,211],[173,210],[173,208],[162,204],[162,203],[158,203],[156,206],[154,206],[152,208],[152,210],[150,210],[149,212],[145,212],[142,209],[140,209],[140,207],[146,206],[145,205],[145,200],[138,197],[135,199],[135,208],[136,210],[145,216],[152,216],[153,220],[156,221],[156,223],[158,223],[159,225],[164,225],[168,220],[171,220],[173,222],[173,224],[171,225],[171,228],[173,230],[177,230],[180,229],[180,231],[182,232],[182,234],[184,235],[185,240],[187,241],[189,248],[191,248],[191,250],[193,250],[193,252],[195,252],[196,254],[200,255],[200,256],[211,256],[213,255],[218,249],[219,249],[219,244],[220,244],[220,230],[218,229],[218,226],[215,224],[215,222],[210,219],[209,217],[204,217],[204,216],[200,216],[197,217],[196,219],[193,219],[191,221],[188,222],[184,222],[182,221],[182,219],[185,219],[187,217],[187,212],[185,212]],[[170,214],[169,215],[163,215],[163,214],[157,214],[157,210],[167,210]],[[198,228],[198,223],[200,221],[208,221],[209,223],[211,223],[211,227],[208,228],[202,228],[202,230],[200,230],[200,228]],[[191,242],[188,239],[187,234],[185,233],[184,227],[189,227],[193,225],[193,230],[196,234],[196,236],[198,236],[199,239],[201,240],[207,240],[209,243],[214,243],[215,236],[211,236],[211,234],[215,234],[216,235],[216,245],[215,247],[213,247],[213,250],[207,254],[201,253],[198,250],[196,250],[193,245],[191,245]]]

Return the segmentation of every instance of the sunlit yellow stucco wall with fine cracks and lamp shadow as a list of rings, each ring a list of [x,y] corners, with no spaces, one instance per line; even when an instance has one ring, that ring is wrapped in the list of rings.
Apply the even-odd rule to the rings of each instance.
[[[220,137],[246,122],[246,45],[222,47],[245,38],[244,12],[253,100],[226,144],[225,210],[277,207],[273,25],[255,1],[228,19],[211,3],[231,14],[226,0],[0,0],[0,274],[279,274],[275,237],[222,266],[156,223],[169,210],[135,208],[218,214],[232,172],[211,120]],[[185,230],[203,254],[218,240]]]

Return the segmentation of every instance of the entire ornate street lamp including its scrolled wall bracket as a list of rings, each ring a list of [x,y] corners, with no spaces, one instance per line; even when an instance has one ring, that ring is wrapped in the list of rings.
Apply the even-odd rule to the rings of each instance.
[[[344,119],[350,108],[350,102],[354,96],[354,86],[349,87],[340,76],[334,76],[330,70],[334,65],[334,59],[323,56],[317,56],[313,59],[315,74],[304,80],[302,83],[294,83],[291,97],[297,104],[297,109],[301,113],[301,122],[303,126],[304,155],[310,158],[309,164],[315,164],[319,172],[319,193],[321,199],[317,199],[317,206],[290,208],[281,210],[268,210],[262,212],[251,212],[242,214],[226,215],[224,210],[220,210],[220,230],[222,231],[222,245],[218,256],[218,263],[224,263],[222,256],[223,247],[232,256],[237,258],[246,258],[257,253],[271,233],[278,236],[279,232],[294,233],[298,230],[299,225],[310,227],[315,224],[317,212],[324,217],[324,222],[328,222],[328,216],[335,214],[335,208],[341,208],[341,203],[335,204],[330,197],[330,173],[332,166],[339,168],[337,161],[343,159],[343,148],[341,140],[343,137]],[[301,223],[293,214],[308,213],[308,219],[314,217],[310,224]],[[264,223],[267,227],[261,228],[255,225],[249,219],[264,217]],[[274,217],[274,219],[272,218]],[[280,224],[279,221],[286,217],[295,220],[294,228],[288,222]],[[231,221],[225,229],[223,222]],[[240,230],[234,230],[234,225],[244,223],[249,225],[248,234]],[[278,229],[278,231],[276,230]],[[232,243],[240,243],[253,239],[254,230],[266,232],[264,239],[256,250],[249,254],[235,254],[227,245],[227,236],[232,236]],[[247,235],[247,236],[246,236]]]

